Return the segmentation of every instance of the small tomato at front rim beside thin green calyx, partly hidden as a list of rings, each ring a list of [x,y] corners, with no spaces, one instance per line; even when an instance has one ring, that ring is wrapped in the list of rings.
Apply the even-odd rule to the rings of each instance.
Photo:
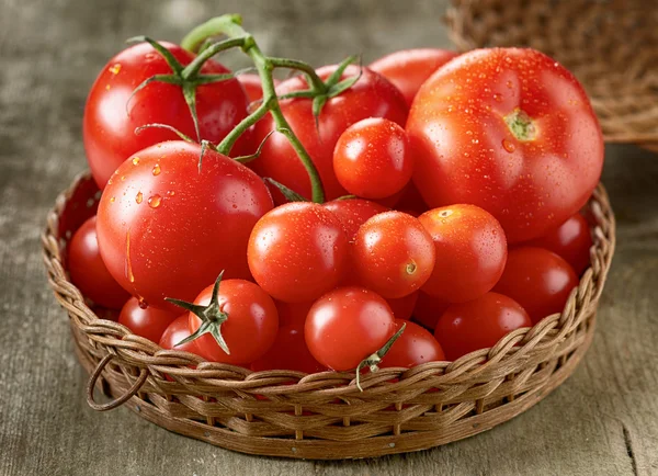
[[[405,331],[393,343],[386,355],[382,359],[379,366],[383,367],[407,367],[423,364],[426,362],[440,362],[445,360],[441,345],[428,330],[417,324],[395,319],[397,329],[406,324]]]

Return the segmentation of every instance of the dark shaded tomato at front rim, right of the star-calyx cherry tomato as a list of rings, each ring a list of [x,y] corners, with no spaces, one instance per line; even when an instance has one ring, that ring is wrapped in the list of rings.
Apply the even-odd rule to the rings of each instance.
[[[251,364],[251,370],[254,372],[286,370],[314,374],[327,369],[314,359],[306,347],[304,322],[302,322],[281,327],[270,350]]]

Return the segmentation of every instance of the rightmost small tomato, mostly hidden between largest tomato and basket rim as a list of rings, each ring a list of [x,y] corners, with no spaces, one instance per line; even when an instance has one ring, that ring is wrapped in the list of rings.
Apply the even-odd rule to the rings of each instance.
[[[587,219],[579,213],[543,237],[524,245],[545,248],[559,254],[578,275],[590,265],[589,250],[592,247],[592,236]]]

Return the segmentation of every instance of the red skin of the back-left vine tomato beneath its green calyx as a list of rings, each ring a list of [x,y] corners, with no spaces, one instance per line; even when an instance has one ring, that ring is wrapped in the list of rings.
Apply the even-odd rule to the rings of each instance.
[[[194,54],[178,45],[162,43],[182,64]],[[227,68],[209,60],[202,73],[226,73]],[[135,128],[161,123],[196,137],[182,89],[175,84],[151,82],[131,94],[154,75],[171,73],[167,61],[147,43],[131,46],[114,56],[91,87],[83,117],[84,150],[93,178],[102,190],[116,168],[133,154],[178,136],[166,129],[150,128],[135,134]],[[218,144],[247,116],[247,97],[236,79],[201,86],[196,89],[196,113],[201,137]]]

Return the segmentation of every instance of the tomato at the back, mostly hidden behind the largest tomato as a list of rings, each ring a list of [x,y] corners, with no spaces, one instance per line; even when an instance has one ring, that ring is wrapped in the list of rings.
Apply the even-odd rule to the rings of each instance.
[[[457,55],[440,48],[402,49],[371,63],[368,68],[388,79],[411,106],[422,83]]]

